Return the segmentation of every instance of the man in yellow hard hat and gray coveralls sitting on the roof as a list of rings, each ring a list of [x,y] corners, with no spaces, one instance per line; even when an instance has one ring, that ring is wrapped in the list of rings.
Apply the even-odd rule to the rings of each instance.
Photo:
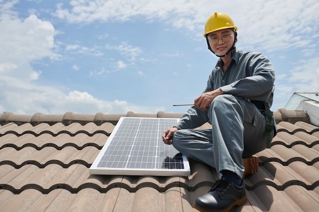
[[[189,158],[216,168],[219,174],[220,179],[196,199],[194,207],[200,211],[229,211],[247,201],[242,178],[257,171],[245,170],[243,160],[253,160],[249,157],[270,147],[276,134],[269,109],[275,72],[262,53],[235,48],[237,27],[225,13],[207,19],[204,37],[208,49],[220,59],[203,94],[176,126],[164,131],[162,138]],[[208,120],[211,129],[195,129]]]

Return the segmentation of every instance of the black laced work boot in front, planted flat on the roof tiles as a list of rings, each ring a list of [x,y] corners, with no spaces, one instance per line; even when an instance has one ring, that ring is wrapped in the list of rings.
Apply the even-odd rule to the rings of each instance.
[[[219,179],[211,190],[196,199],[194,207],[202,212],[227,212],[233,206],[247,202],[244,182],[237,186],[231,181]]]

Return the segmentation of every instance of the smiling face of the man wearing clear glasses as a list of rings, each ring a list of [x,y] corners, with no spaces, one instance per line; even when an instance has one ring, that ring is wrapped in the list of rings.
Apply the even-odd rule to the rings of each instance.
[[[209,33],[207,35],[210,48],[217,54],[223,55],[225,54],[234,43],[234,31],[230,28],[221,29],[219,31],[215,31]],[[237,42],[237,39],[236,39]]]

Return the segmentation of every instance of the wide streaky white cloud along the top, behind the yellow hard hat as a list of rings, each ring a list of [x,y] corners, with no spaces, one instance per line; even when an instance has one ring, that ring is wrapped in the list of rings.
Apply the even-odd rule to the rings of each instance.
[[[246,0],[212,2],[209,0],[73,0],[71,8],[58,5],[55,15],[70,23],[126,21],[137,16],[160,19],[174,28],[193,31],[202,39],[203,25],[214,12],[229,14],[238,26],[238,39],[249,48],[267,51],[297,48],[316,41],[319,2]],[[105,12],[108,11],[108,12]],[[199,33],[200,32],[200,33]],[[305,39],[307,38],[307,39]],[[317,45],[317,44],[316,44]]]

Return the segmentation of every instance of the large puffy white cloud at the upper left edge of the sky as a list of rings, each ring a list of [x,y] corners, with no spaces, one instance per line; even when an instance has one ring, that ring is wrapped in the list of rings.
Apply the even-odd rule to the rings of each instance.
[[[0,6],[3,11],[10,4]],[[45,57],[57,59],[60,56],[52,51],[55,29],[48,21],[42,21],[35,15],[20,20],[10,12],[4,12],[0,15],[0,28],[0,71],[6,76],[36,80],[41,71],[34,71],[31,63]],[[3,77],[0,84],[10,87]]]

